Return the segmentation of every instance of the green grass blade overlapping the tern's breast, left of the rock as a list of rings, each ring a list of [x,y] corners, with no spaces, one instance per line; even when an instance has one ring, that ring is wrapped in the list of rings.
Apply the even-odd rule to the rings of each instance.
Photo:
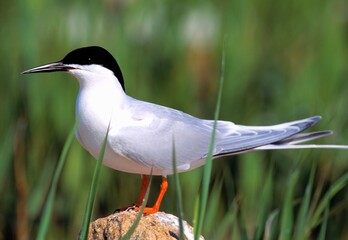
[[[101,170],[101,166],[103,163],[103,158],[104,158],[105,148],[106,148],[107,139],[108,139],[108,135],[109,135],[109,130],[110,130],[110,123],[109,123],[108,129],[106,131],[106,135],[105,135],[102,147],[101,147],[100,152],[99,152],[96,166],[94,168],[92,184],[91,184],[91,188],[89,190],[85,215],[83,217],[80,239],[87,239],[87,237],[88,237],[89,223],[91,221],[91,216],[92,216],[92,211],[93,211],[93,206],[94,206],[94,201],[95,201],[95,195],[96,195],[97,188],[98,188],[99,175],[100,175],[100,170]]]

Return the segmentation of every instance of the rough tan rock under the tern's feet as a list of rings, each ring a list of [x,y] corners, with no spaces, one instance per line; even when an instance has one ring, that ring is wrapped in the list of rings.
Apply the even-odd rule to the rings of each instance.
[[[134,223],[138,212],[129,210],[99,218],[89,227],[88,239],[119,239]],[[194,239],[193,228],[183,221],[185,239]],[[164,212],[142,216],[130,239],[179,239],[179,221]],[[200,239],[204,240],[201,236]]]

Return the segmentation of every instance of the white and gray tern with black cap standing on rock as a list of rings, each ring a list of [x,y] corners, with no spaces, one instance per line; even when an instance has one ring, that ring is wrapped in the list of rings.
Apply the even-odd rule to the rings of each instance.
[[[76,137],[98,159],[107,135],[103,164],[112,169],[140,174],[141,191],[135,209],[143,202],[149,176],[162,176],[160,192],[144,214],[156,213],[173,174],[173,153],[177,172],[205,163],[214,120],[194,117],[182,111],[128,96],[116,59],[106,49],[88,46],[69,52],[62,60],[22,72],[67,72],[77,78]],[[247,126],[216,121],[213,159],[252,151],[301,148],[340,148],[345,145],[300,144],[332,134],[330,130],[303,133],[320,121],[314,116],[297,121]]]

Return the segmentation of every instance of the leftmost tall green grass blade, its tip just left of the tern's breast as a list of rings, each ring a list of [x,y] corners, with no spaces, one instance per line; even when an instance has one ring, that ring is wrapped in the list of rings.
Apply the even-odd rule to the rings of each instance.
[[[38,235],[36,238],[38,240],[46,239],[46,234],[47,234],[48,225],[49,225],[50,219],[51,219],[53,202],[54,202],[54,197],[56,195],[58,181],[60,179],[60,176],[62,175],[63,167],[65,165],[69,149],[70,149],[70,147],[73,143],[73,140],[74,140],[75,128],[76,128],[76,125],[74,125],[73,129],[70,131],[70,134],[69,134],[67,140],[65,141],[63,151],[62,151],[62,154],[60,155],[56,171],[54,172],[52,185],[51,185],[50,191],[49,191],[48,196],[47,196],[47,200],[45,203],[45,207],[44,207],[43,214],[42,214],[41,221],[40,221],[40,225],[39,225]]]

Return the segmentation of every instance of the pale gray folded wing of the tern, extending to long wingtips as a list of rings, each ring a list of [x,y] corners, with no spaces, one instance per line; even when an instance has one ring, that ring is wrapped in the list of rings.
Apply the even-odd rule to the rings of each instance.
[[[144,166],[172,169],[173,149],[179,171],[207,156],[214,121],[195,118],[181,111],[134,100],[132,116],[117,131],[111,130],[109,145],[117,152]],[[237,154],[268,144],[296,141],[296,134],[313,126],[320,117],[268,126],[249,127],[218,121],[214,156]],[[322,136],[322,134],[319,134]],[[303,138],[312,135],[300,135]]]

